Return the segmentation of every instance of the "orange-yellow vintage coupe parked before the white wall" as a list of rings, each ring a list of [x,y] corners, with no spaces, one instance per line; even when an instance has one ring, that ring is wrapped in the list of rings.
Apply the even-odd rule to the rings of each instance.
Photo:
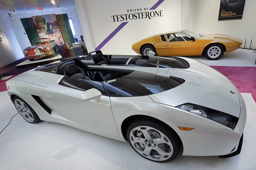
[[[160,33],[132,45],[132,50],[141,55],[153,51],[158,56],[205,55],[209,60],[218,60],[224,52],[230,53],[244,41],[225,34],[197,34],[188,30]]]

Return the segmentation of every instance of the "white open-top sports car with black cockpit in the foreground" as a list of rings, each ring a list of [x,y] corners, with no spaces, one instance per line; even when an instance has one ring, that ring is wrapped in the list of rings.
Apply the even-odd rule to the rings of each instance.
[[[29,123],[57,122],[128,141],[155,162],[174,159],[181,147],[187,156],[228,158],[241,151],[240,92],[189,58],[96,52],[24,72],[6,86]]]

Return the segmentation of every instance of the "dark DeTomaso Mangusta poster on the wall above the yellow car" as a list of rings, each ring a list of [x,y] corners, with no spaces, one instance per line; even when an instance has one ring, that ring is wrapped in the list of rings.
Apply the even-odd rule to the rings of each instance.
[[[219,21],[242,19],[245,0],[220,0]]]

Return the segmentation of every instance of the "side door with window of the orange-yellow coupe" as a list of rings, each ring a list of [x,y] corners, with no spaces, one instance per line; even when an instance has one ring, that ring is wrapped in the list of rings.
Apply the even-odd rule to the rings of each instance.
[[[168,39],[168,48],[174,55],[197,55],[198,54],[198,43],[192,41],[190,37],[182,33],[171,33],[166,34]]]

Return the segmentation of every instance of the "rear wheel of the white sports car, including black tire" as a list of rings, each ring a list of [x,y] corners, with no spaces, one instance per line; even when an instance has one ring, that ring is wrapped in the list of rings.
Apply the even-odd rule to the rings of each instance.
[[[26,101],[21,99],[18,96],[13,98],[14,106],[16,107],[19,114],[29,123],[38,123],[40,122],[40,118],[36,114],[36,112],[28,105]],[[22,103],[23,102],[23,103]]]

